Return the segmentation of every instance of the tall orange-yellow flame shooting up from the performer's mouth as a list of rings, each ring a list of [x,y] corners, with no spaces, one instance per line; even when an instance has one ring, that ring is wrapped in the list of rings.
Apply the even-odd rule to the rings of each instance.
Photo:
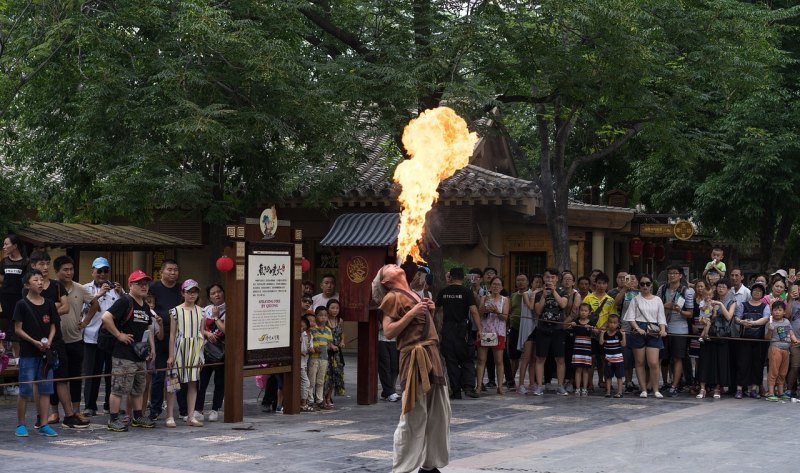
[[[403,131],[403,146],[410,156],[397,166],[394,181],[402,190],[397,256],[421,261],[417,242],[425,231],[425,215],[439,198],[439,183],[469,164],[478,135],[448,107],[425,110]]]

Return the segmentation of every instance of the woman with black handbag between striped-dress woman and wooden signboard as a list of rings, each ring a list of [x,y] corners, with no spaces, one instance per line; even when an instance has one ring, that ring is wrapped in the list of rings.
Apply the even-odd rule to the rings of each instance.
[[[220,363],[225,360],[225,290],[220,284],[214,283],[206,288],[209,304],[203,309],[206,317],[206,332],[209,333],[206,344],[203,346],[205,363]],[[206,403],[206,390],[214,376],[214,397],[211,400],[211,411],[208,421],[216,422],[219,419],[219,410],[225,398],[225,365],[203,366],[200,370],[200,387],[197,390],[195,410],[202,414]]]

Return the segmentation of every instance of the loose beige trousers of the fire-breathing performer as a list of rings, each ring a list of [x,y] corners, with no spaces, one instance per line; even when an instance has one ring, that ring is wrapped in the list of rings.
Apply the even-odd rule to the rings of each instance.
[[[406,393],[403,393],[405,397]],[[402,402],[400,403],[402,405]],[[431,386],[394,431],[393,473],[442,468],[450,462],[450,399],[447,386]]]

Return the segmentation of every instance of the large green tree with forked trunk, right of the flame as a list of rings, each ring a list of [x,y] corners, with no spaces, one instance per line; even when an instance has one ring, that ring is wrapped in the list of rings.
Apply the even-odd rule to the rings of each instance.
[[[570,266],[567,209],[579,170],[634,138],[669,150],[704,144],[688,125],[759,90],[780,58],[775,17],[735,1],[493,5],[486,24],[500,41],[488,74],[511,135],[538,163],[560,268]]]

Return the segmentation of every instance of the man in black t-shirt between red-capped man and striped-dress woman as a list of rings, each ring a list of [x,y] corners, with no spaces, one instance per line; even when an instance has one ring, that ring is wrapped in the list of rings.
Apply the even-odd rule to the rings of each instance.
[[[161,317],[164,324],[164,339],[156,342],[156,369],[167,367],[169,358],[169,311],[182,302],[181,285],[178,283],[180,269],[173,259],[165,259],[161,263],[161,279],[150,283],[150,295],[156,300],[153,310]],[[178,411],[181,417],[186,415],[186,389],[178,391]],[[157,371],[150,384],[150,419],[156,420],[161,415],[164,405],[164,371]]]

